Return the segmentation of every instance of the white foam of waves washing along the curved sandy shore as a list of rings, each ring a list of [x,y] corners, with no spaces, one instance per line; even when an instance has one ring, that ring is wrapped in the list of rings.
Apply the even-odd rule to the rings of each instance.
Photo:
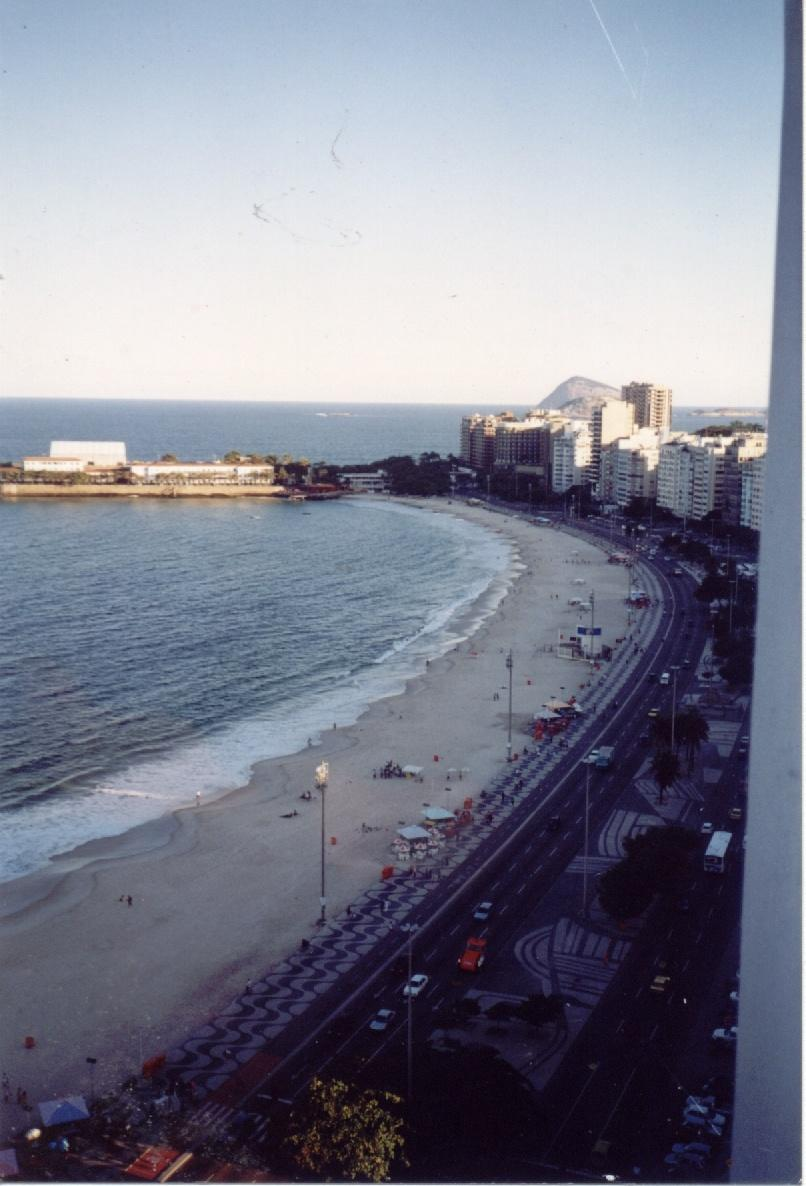
[[[376,504],[384,511],[421,515],[415,508]],[[478,580],[439,607],[410,638],[398,639],[375,663],[352,675],[341,672],[312,696],[288,697],[270,715],[243,720],[180,744],[165,754],[137,761],[84,792],[28,804],[9,814],[0,836],[0,880],[46,865],[55,854],[89,840],[119,835],[166,810],[191,805],[244,785],[255,763],[296,753],[308,738],[318,741],[333,725],[352,725],[373,702],[403,691],[408,680],[469,637],[500,604],[523,568],[500,535],[455,516],[434,516],[443,530],[466,536],[474,549]],[[469,613],[468,613],[469,611]]]

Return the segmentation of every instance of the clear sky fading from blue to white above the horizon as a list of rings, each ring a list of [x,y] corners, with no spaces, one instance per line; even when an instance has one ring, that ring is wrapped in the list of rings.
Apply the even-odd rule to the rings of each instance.
[[[767,402],[778,0],[2,0],[0,395]]]

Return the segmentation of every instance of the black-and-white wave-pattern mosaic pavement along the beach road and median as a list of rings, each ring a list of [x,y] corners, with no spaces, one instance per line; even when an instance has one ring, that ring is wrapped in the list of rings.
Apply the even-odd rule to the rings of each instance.
[[[647,572],[641,575],[641,580],[646,587],[652,588],[654,604],[633,625],[633,645],[626,642],[608,669],[595,683],[590,681],[591,691],[588,695],[596,696],[599,723],[601,713],[618,700],[621,689],[631,680],[638,640],[644,637],[648,640],[661,624],[663,612],[655,578]],[[570,744],[576,744],[596,723],[597,720],[576,721],[567,731],[565,738]],[[543,744],[525,753],[517,764],[507,766],[481,792],[481,802],[476,805],[476,822],[472,827],[459,829],[456,836],[446,844],[439,868],[417,871],[415,876],[398,873],[389,881],[367,890],[353,903],[347,914],[331,919],[305,950],[289,955],[271,968],[215,1020],[171,1050],[167,1056],[168,1069],[183,1079],[192,1080],[197,1097],[206,1098],[203,1108],[194,1112],[192,1124],[206,1126],[209,1130],[212,1122],[224,1123],[234,1111],[232,1105],[222,1104],[219,1099],[222,1091],[226,1091],[226,1084],[234,1078],[241,1080],[244,1088],[242,1097],[245,1096],[249,1090],[247,1079],[254,1077],[250,1067],[254,1067],[255,1073],[260,1070],[257,1083],[268,1073],[263,1064],[266,1047],[273,1039],[306,1013],[390,933],[399,932],[403,945],[408,920],[427,897],[436,892],[437,887],[441,887],[441,897],[444,895],[446,879],[467,861],[474,849],[517,809],[535,790],[538,780],[545,778],[564,755],[564,746]],[[613,823],[606,833],[603,849],[600,840],[600,855],[589,861],[589,872],[597,872],[619,859],[622,855],[620,846],[626,835],[659,822],[654,817],[635,812],[622,815],[623,818]],[[576,872],[578,860],[576,857],[571,862],[569,871]],[[595,869],[593,862],[596,862]],[[518,958],[545,984],[551,986],[546,990],[574,996],[580,1003],[593,1007],[615,975],[628,946],[627,939],[593,932],[563,919],[519,944]],[[261,1064],[260,1067],[257,1063]]]

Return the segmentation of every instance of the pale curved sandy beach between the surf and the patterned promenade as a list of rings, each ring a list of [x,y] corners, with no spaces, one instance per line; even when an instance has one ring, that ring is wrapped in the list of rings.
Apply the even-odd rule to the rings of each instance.
[[[512,541],[508,593],[472,637],[354,725],[260,763],[247,786],[94,841],[0,887],[0,1069],[12,1095],[18,1086],[31,1101],[85,1092],[88,1057],[97,1059],[96,1090],[114,1088],[313,933],[320,808],[300,796],[313,788],[318,763],[330,764],[327,908],[335,914],[378,881],[401,823],[420,822],[426,804],[453,809],[460,795],[478,796],[505,764],[510,648],[514,748],[544,701],[584,700],[587,667],[550,648],[575,627],[568,601],[581,588],[595,589],[603,640],[625,633],[625,569],[554,528],[485,508],[423,506]],[[388,760],[422,766],[423,780],[373,778]],[[468,773],[448,783],[448,767]],[[286,817],[292,811],[299,814]],[[15,1103],[4,1104],[4,1135],[25,1118]]]

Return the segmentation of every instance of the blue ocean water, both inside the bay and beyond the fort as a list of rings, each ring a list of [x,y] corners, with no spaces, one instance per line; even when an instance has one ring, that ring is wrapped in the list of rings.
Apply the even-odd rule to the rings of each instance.
[[[456,453],[471,410],[0,400],[0,460],[78,439],[348,465]],[[384,500],[0,502],[0,880],[357,720],[492,611],[511,559]]]

